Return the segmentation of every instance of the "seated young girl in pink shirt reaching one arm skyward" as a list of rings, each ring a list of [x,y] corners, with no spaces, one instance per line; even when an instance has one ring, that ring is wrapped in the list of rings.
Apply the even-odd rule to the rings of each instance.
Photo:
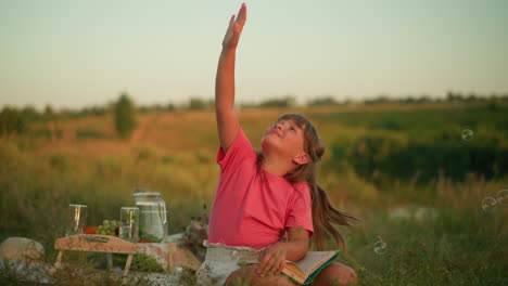
[[[233,109],[234,58],[245,20],[243,3],[237,18],[231,16],[218,62],[215,104],[220,179],[198,281],[201,285],[294,285],[280,274],[285,260],[303,258],[310,236],[317,249],[331,236],[343,248],[331,223],[350,225],[354,218],[335,210],[316,182],[316,165],[325,147],[307,119],[282,115],[266,129],[259,154],[240,128]],[[355,283],[352,269],[333,262],[312,285]]]

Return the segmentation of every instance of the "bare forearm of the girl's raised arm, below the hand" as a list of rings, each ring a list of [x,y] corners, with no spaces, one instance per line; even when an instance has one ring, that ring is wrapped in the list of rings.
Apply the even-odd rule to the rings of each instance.
[[[236,49],[223,49],[215,78],[215,108],[217,113],[229,112],[234,106]]]

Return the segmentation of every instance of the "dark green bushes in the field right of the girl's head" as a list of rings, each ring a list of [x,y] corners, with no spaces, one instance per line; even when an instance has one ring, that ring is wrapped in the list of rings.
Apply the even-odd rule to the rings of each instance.
[[[332,148],[344,156],[344,150]],[[508,148],[456,142],[407,142],[390,134],[359,138],[345,155],[361,178],[385,185],[394,180],[428,183],[441,173],[456,182],[468,173],[490,180],[508,174]]]

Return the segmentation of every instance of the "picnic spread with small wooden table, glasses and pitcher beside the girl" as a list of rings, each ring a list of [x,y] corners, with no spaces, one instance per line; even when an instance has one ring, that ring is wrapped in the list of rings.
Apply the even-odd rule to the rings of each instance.
[[[120,208],[119,220],[103,220],[102,225],[98,226],[86,225],[87,205],[69,204],[69,211],[64,218],[65,235],[54,240],[54,249],[58,251],[54,263],[30,261],[12,265],[20,273],[27,274],[27,282],[52,285],[52,275],[65,271],[72,263],[69,253],[81,252],[87,258],[103,256],[106,259],[105,270],[97,269],[88,276],[103,275],[107,271],[123,285],[137,285],[140,277],[150,285],[178,285],[183,268],[196,270],[201,261],[186,249],[185,233],[167,234],[166,204],[160,193],[135,188],[134,199],[135,207]],[[11,252],[28,253],[33,250],[27,249],[33,249],[36,242],[25,243],[26,247],[16,244],[25,240],[29,239],[14,237],[7,239],[1,247],[12,248]],[[115,259],[114,256],[118,255],[127,256],[125,263],[122,258]],[[136,257],[140,257],[139,263],[148,261],[148,264],[156,265],[156,272],[150,272],[150,265],[148,271],[132,271]],[[8,266],[7,261],[1,261],[2,268]]]

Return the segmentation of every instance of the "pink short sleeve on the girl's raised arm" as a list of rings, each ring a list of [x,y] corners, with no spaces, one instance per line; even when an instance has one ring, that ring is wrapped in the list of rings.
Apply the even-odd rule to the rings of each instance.
[[[255,157],[256,153],[243,130],[240,129],[226,153],[219,147],[215,160],[220,166],[220,171],[225,172],[237,168],[245,158],[253,156]]]

